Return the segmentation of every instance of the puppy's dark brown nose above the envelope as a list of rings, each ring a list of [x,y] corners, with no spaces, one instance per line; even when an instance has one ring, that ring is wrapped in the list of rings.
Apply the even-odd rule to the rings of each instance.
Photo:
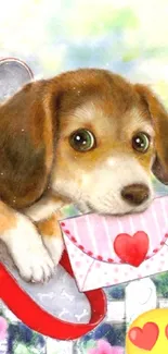
[[[145,184],[130,184],[122,188],[121,196],[125,202],[139,206],[150,196],[150,190]]]

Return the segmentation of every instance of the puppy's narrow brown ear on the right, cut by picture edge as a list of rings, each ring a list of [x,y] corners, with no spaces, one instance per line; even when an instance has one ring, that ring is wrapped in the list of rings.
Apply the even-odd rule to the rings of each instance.
[[[153,173],[160,182],[168,184],[168,113],[148,87],[135,85],[135,89],[147,105],[156,134]]]

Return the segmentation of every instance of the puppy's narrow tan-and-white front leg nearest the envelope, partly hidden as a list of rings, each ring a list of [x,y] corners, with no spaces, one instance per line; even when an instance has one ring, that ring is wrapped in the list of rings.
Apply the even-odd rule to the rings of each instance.
[[[57,266],[64,251],[63,237],[59,225],[60,219],[61,211],[57,211],[49,219],[36,222],[37,229],[55,266]]]

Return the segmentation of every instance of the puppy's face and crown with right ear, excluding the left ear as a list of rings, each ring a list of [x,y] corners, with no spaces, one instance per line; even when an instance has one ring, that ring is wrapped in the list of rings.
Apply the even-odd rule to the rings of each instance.
[[[158,99],[145,86],[99,70],[67,73],[60,94],[53,83],[52,89],[54,191],[83,211],[145,209],[153,199],[152,169],[168,181],[168,115]]]

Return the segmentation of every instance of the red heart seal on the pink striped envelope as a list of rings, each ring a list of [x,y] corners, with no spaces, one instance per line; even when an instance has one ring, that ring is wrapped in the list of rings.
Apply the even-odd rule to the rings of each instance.
[[[120,233],[114,241],[117,256],[131,266],[139,267],[148,251],[148,236],[144,231],[138,231],[133,236]]]

